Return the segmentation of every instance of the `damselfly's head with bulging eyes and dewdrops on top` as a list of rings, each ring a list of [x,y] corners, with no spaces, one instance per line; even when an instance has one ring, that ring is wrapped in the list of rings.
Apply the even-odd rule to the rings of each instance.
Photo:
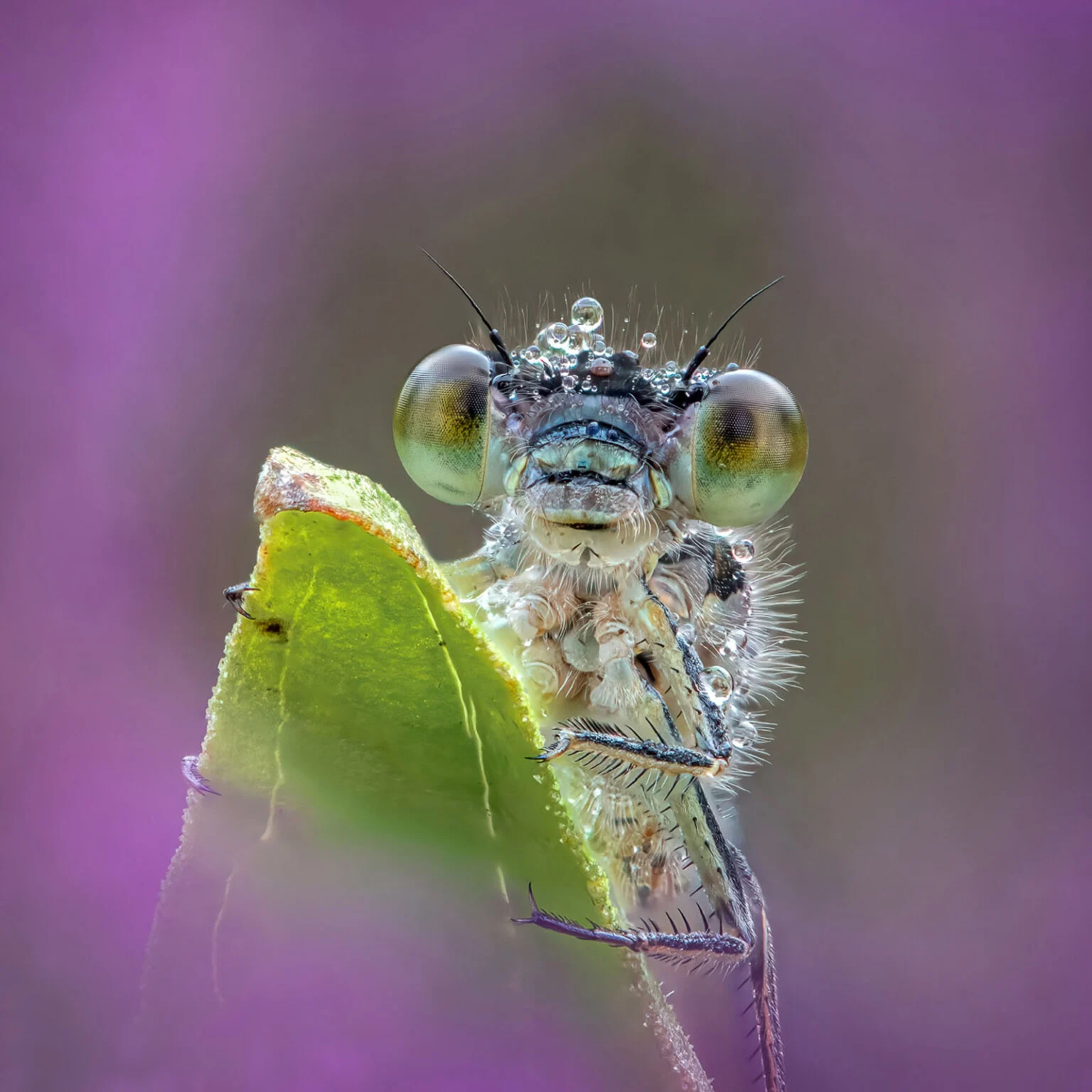
[[[585,296],[523,348],[490,329],[492,352],[427,356],[394,413],[410,476],[449,503],[510,499],[537,545],[569,560],[581,547],[633,557],[674,514],[743,526],[776,512],[807,459],[788,389],[750,368],[703,366],[708,345],[686,367],[651,367],[654,334],[616,351],[602,324]]]

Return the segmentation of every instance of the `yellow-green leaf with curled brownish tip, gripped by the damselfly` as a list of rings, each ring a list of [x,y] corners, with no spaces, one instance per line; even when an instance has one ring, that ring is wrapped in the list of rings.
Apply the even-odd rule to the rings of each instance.
[[[641,1087],[707,1088],[641,961],[509,923],[527,909],[529,881],[557,913],[605,922],[613,911],[553,773],[527,761],[541,737],[519,682],[402,507],[287,448],[262,468],[254,507],[254,617],[227,639],[200,760],[221,795],[190,794],[150,947],[151,993],[174,996],[170,975],[198,962],[223,1002],[238,889],[259,903],[283,898],[262,862],[280,851],[283,864],[285,846],[308,858],[335,846],[341,859],[359,848],[384,871],[441,877],[453,905],[476,892],[488,911],[473,928],[498,943],[519,933],[512,959],[534,951],[563,964],[566,1004],[613,1013],[596,1031],[642,1059]],[[313,883],[307,898],[319,898]],[[162,958],[176,943],[188,954]]]

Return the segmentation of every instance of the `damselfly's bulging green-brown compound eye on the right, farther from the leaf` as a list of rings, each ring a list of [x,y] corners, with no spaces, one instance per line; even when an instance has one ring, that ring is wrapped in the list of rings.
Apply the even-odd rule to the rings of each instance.
[[[808,429],[784,383],[762,371],[726,371],[698,406],[690,455],[699,519],[717,526],[761,523],[799,483]]]

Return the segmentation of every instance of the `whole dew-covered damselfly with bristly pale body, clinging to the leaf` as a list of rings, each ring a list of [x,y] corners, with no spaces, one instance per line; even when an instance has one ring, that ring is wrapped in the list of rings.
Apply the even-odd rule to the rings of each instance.
[[[803,474],[807,430],[776,379],[708,363],[716,334],[679,367],[653,333],[616,348],[602,323],[583,297],[523,348],[489,328],[488,349],[438,349],[403,388],[395,443],[427,492],[492,519],[448,575],[538,703],[537,758],[628,925],[584,928],[533,900],[526,921],[672,962],[746,964],[772,1092],[769,923],[720,818],[797,672],[796,574],[769,521]]]

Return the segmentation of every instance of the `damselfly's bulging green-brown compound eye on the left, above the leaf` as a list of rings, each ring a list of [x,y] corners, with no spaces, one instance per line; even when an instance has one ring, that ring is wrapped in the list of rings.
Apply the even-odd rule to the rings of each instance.
[[[482,497],[489,453],[489,358],[446,345],[411,372],[394,408],[394,447],[406,473],[437,500]]]

